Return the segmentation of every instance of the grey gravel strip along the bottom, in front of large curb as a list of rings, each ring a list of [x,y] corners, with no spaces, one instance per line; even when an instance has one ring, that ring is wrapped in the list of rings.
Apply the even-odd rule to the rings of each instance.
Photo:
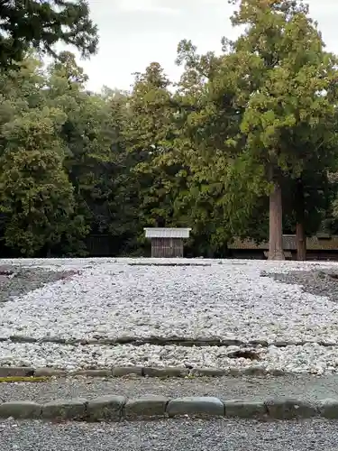
[[[336,422],[177,419],[120,424],[0,423],[2,451],[336,451]]]

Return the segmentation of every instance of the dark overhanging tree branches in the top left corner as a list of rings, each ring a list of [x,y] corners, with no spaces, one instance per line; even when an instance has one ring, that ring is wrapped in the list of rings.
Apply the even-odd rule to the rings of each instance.
[[[59,41],[81,51],[96,52],[96,25],[85,0],[3,0],[0,4],[0,69],[23,61],[31,47],[57,56]]]

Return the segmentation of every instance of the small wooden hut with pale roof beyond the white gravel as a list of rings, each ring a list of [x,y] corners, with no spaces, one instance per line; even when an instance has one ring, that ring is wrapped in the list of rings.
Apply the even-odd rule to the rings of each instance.
[[[183,240],[189,237],[190,230],[191,228],[145,228],[145,237],[151,239],[151,257],[183,257]]]

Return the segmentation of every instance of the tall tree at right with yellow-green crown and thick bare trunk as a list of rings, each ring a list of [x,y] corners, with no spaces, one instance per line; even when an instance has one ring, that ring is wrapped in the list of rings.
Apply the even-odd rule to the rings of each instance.
[[[324,51],[307,5],[294,0],[233,3],[239,3],[233,25],[246,25],[246,30],[231,51],[251,83],[241,131],[248,154],[264,167],[271,187],[269,258],[283,259],[282,179],[285,173],[299,178],[306,161],[322,158],[325,144],[333,148],[337,60]]]

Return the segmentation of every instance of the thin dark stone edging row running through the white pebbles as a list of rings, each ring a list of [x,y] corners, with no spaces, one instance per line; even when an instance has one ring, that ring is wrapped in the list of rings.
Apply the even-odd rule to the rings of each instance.
[[[287,346],[304,346],[304,345],[320,345],[324,347],[338,346],[338,343],[328,343],[324,341],[277,341],[269,343],[265,340],[251,340],[244,342],[241,340],[232,339],[221,339],[221,338],[187,338],[183,336],[148,336],[145,338],[137,336],[120,336],[116,338],[60,338],[59,336],[43,336],[41,338],[35,338],[32,336],[6,336],[0,337],[0,342],[12,342],[12,343],[55,343],[58,345],[178,345],[186,347],[204,347],[204,346],[219,346],[219,347],[229,347],[229,346],[239,346],[239,347],[287,347]]]

